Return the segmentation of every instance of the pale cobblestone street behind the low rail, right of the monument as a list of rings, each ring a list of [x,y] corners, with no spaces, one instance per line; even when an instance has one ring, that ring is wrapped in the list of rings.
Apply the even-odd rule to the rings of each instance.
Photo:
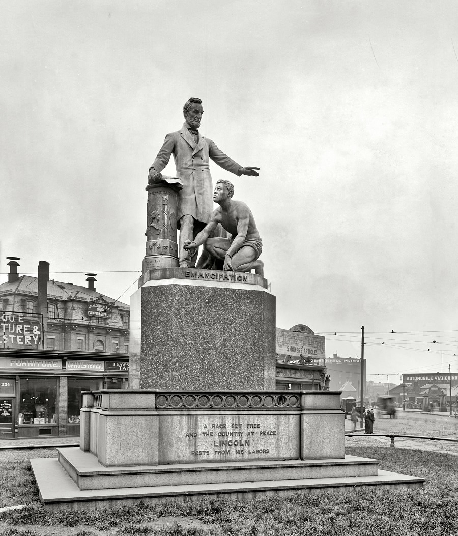
[[[380,415],[376,410],[374,410],[374,413],[374,434],[403,434],[458,439],[458,419],[449,415],[410,411],[403,412],[399,410],[396,413],[396,419],[389,419],[385,415]],[[345,420],[345,430],[352,430],[350,419]],[[364,431],[357,431],[357,433],[361,434],[362,437],[346,437],[346,446],[388,446],[390,444],[389,437],[368,436],[364,435]],[[458,443],[448,441],[396,437],[395,447],[458,454]]]

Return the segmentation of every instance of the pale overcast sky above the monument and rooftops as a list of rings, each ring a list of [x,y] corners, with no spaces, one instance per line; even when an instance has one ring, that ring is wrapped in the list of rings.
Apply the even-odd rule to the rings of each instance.
[[[457,16],[439,0],[0,2],[1,281],[6,256],[29,274],[47,260],[128,303],[148,167],[199,96],[203,135],[261,168],[210,163],[255,216],[277,326],[354,357],[364,325],[374,381],[456,371]]]

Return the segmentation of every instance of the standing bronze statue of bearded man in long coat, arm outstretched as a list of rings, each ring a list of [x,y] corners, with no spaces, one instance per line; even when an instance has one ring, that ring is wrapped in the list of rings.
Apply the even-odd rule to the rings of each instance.
[[[156,160],[149,168],[148,183],[155,182],[156,174],[169,163],[173,154],[177,177],[184,187],[178,192],[177,227],[179,236],[179,266],[194,267],[198,250],[193,255],[184,249],[186,241],[193,241],[212,215],[213,183],[209,159],[235,175],[257,177],[257,167],[243,167],[224,154],[210,138],[199,132],[202,119],[202,101],[191,97],[183,107],[185,123],[180,130],[165,136]]]

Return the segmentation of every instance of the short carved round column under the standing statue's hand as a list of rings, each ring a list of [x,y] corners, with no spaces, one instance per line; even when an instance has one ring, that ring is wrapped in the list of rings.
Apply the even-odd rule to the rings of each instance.
[[[143,273],[151,269],[178,266],[177,194],[183,185],[175,178],[160,174],[158,179],[146,187],[147,240]]]

